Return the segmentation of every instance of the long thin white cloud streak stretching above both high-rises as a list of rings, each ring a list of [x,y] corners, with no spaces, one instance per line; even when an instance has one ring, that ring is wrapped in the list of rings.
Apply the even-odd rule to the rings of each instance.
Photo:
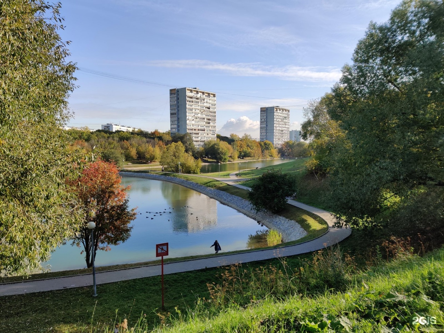
[[[262,63],[218,63],[209,60],[152,60],[148,66],[167,68],[200,68],[210,71],[223,71],[234,76],[265,76],[279,79],[311,82],[336,82],[341,77],[337,67],[266,66]]]

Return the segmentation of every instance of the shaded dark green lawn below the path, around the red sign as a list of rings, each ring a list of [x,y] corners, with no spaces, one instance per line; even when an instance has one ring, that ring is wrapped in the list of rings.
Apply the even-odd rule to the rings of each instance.
[[[302,258],[309,257],[288,260],[298,266]],[[279,260],[252,262],[245,267],[256,269],[269,264],[279,265]],[[222,271],[211,268],[165,275],[165,312],[175,313],[176,306],[184,312],[194,306],[198,297],[208,299],[206,283],[217,281]],[[112,324],[117,309],[119,319],[127,317],[130,325],[135,324],[141,313],[147,315],[150,328],[159,323],[156,314],[162,312],[159,276],[98,285],[97,293],[98,297],[92,297],[92,287],[82,287],[0,297],[0,332],[90,332],[83,327],[91,323],[93,313],[94,324]]]

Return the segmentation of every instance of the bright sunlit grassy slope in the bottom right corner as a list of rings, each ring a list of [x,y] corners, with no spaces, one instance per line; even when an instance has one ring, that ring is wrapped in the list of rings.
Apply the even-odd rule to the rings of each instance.
[[[301,322],[319,324],[328,313],[335,318],[346,316],[356,332],[382,331],[381,326],[385,326],[385,321],[377,317],[379,314],[386,316],[385,320],[387,316],[395,315],[396,318],[389,325],[393,327],[396,323],[401,326],[412,323],[417,313],[424,317],[436,317],[437,324],[428,329],[442,331],[440,305],[444,301],[444,250],[435,251],[426,258],[394,261],[358,274],[354,280],[355,284],[345,292],[315,297],[297,295],[281,302],[269,299],[246,309],[229,309],[214,318],[201,316],[189,317],[185,322],[176,321],[175,325],[163,329],[163,332],[204,332],[208,328],[214,333],[299,332]],[[403,296],[391,296],[395,291]],[[435,302],[427,301],[422,294]],[[309,332],[326,331],[313,328]]]

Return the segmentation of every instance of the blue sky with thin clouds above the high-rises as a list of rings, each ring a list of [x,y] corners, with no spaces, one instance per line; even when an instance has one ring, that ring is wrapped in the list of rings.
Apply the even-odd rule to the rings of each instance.
[[[218,134],[259,137],[260,107],[290,109],[330,91],[370,21],[392,0],[62,0],[77,64],[69,126],[170,130],[169,89],[216,92]]]

